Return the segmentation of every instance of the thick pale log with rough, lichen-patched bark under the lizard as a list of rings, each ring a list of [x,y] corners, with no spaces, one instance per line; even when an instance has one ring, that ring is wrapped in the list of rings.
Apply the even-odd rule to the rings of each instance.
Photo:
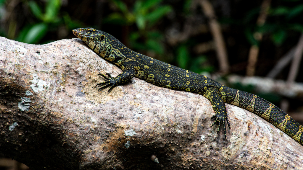
[[[226,104],[225,140],[201,95],[137,78],[98,93],[122,71],[79,39],[0,37],[0,60],[0,152],[32,170],[303,169],[303,146],[247,110]]]

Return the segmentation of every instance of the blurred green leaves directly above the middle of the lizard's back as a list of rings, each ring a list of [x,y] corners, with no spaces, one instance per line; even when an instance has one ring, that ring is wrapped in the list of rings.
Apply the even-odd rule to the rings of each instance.
[[[105,18],[104,23],[123,26],[136,25],[137,31],[129,34],[129,44],[135,50],[152,51],[161,60],[166,60],[164,33],[153,28],[165,15],[172,11],[170,5],[162,5],[163,0],[135,1],[133,6],[127,7],[121,0],[112,0],[119,9]],[[183,11],[186,15],[190,13],[191,0],[184,2]],[[143,42],[142,42],[143,41]],[[178,67],[189,69],[197,73],[202,71],[213,71],[214,67],[204,67],[207,60],[205,56],[194,57],[190,54],[190,46],[180,44],[175,48],[175,60]],[[167,61],[167,60],[166,60]],[[189,67],[191,66],[191,67]]]

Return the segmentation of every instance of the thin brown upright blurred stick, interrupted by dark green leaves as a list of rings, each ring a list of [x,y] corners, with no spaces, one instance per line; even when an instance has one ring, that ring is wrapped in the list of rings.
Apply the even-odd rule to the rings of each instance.
[[[270,8],[270,3],[271,0],[264,0],[261,4],[261,11],[259,14],[259,17],[257,19],[257,25],[262,26],[265,23],[267,14],[268,14],[268,9]],[[262,40],[262,33],[260,32],[255,32],[254,33],[254,38],[257,41]],[[247,65],[247,70],[246,70],[246,75],[248,76],[253,76],[255,74],[256,70],[256,63],[258,60],[258,54],[259,54],[259,47],[258,45],[254,44],[251,46],[248,54],[248,65]]]

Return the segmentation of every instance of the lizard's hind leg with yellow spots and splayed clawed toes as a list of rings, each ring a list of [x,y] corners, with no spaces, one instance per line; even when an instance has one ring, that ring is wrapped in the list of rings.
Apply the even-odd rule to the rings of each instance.
[[[218,125],[217,133],[220,130],[221,123],[223,124],[224,136],[226,139],[226,127],[225,127],[225,119],[227,121],[227,125],[230,129],[230,124],[227,118],[226,106],[221,97],[219,96],[218,89],[215,87],[208,88],[203,94],[208,100],[210,100],[212,108],[215,111],[215,115],[211,117],[211,119],[215,119],[215,122],[211,125],[214,126],[215,123]]]

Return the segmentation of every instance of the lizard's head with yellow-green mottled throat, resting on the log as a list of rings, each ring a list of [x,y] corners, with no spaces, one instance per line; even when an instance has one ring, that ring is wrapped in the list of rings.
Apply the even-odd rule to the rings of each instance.
[[[103,58],[110,50],[112,41],[116,39],[112,35],[94,28],[77,28],[72,31],[75,36]]]

